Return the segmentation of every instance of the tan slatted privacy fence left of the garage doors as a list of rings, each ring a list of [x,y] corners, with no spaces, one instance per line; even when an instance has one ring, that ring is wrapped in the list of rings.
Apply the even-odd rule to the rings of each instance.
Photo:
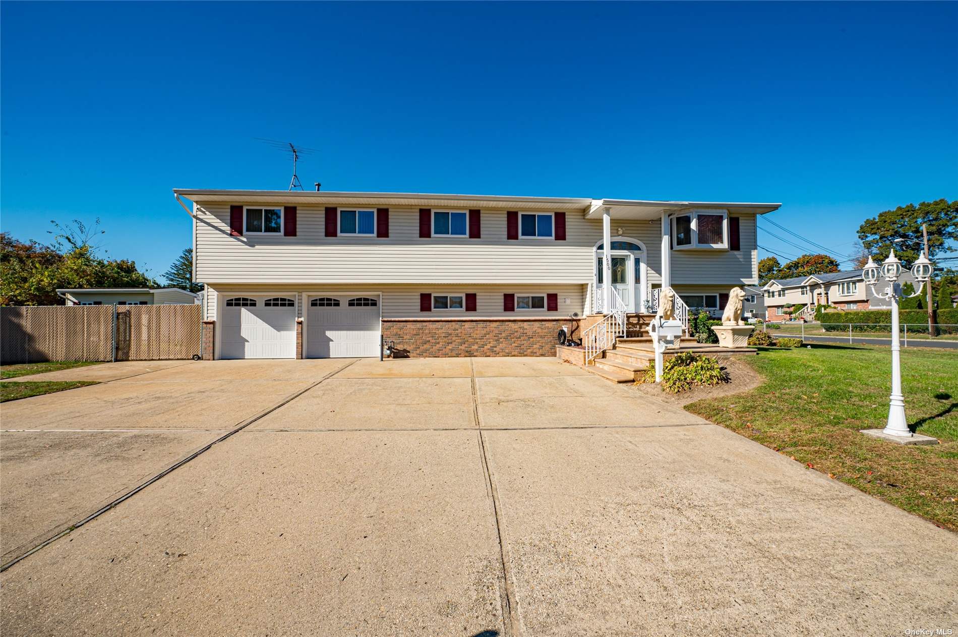
[[[200,307],[118,306],[117,360],[200,353]],[[112,360],[113,306],[0,307],[0,361]]]

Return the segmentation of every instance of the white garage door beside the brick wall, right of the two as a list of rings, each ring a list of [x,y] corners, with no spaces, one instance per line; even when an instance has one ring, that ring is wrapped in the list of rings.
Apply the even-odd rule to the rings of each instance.
[[[310,298],[306,318],[308,358],[379,355],[379,299],[372,296]]]

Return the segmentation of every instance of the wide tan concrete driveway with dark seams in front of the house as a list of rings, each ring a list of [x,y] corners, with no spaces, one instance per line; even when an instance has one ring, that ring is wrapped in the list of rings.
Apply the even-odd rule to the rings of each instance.
[[[0,408],[5,635],[958,628],[955,535],[553,359],[84,374]]]

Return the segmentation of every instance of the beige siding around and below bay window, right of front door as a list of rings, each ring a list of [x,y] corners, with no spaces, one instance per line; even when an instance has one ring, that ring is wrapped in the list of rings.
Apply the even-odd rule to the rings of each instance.
[[[739,217],[741,250],[673,250],[672,283],[729,284],[758,283],[758,244],[754,215]],[[612,221],[615,225],[615,220]],[[650,226],[651,227],[651,226]],[[656,225],[656,232],[658,226]],[[659,262],[650,262],[659,269]]]

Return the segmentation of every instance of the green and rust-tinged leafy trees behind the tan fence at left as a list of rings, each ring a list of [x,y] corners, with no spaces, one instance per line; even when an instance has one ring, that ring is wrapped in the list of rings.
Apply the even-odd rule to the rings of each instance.
[[[80,247],[74,248],[75,244]],[[136,262],[100,259],[86,241],[62,239],[59,245],[66,252],[0,234],[0,305],[63,305],[57,296],[57,288],[62,287],[157,286],[136,268]]]

